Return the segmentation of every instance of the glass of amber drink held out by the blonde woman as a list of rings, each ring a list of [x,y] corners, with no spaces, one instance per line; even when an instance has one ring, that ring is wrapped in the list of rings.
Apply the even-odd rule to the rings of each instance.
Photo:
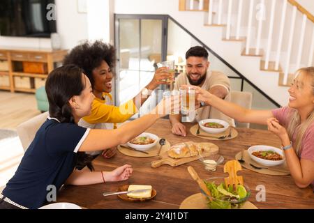
[[[180,101],[181,101],[181,114],[187,115],[195,111],[195,89],[190,86],[181,87]]]

